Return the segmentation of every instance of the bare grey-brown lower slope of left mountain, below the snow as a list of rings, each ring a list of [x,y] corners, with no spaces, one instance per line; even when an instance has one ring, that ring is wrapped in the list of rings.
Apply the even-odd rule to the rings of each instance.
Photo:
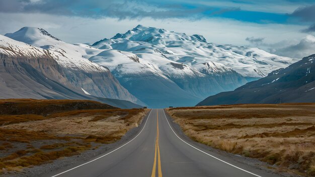
[[[37,63],[39,60],[41,64]],[[0,85],[0,98],[95,100],[119,108],[140,107],[129,101],[83,94],[64,75],[62,67],[52,59],[15,58],[0,53],[0,82],[4,83]],[[64,80],[63,84],[59,80]]]

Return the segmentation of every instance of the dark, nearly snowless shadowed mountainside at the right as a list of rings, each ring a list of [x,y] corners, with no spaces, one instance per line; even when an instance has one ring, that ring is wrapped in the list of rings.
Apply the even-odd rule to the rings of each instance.
[[[235,91],[210,96],[197,106],[315,102],[315,54]]]

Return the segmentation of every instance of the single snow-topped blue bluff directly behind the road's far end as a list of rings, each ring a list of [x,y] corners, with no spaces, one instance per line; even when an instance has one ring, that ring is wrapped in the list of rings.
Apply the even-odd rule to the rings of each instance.
[[[150,107],[186,106],[200,98],[185,92],[152,61],[119,50],[106,50],[90,58],[110,68],[127,90]]]

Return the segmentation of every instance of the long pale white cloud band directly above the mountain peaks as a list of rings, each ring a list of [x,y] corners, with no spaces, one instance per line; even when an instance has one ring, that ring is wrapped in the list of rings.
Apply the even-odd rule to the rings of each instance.
[[[116,33],[125,33],[141,24],[188,35],[201,34],[208,42],[213,43],[260,47],[283,56],[300,58],[315,53],[312,50],[315,46],[309,40],[311,37],[304,38],[305,34],[298,32],[304,27],[298,25],[255,24],[227,19],[117,20],[16,13],[0,13],[0,23],[6,24],[0,28],[0,34],[12,33],[24,26],[33,26],[46,29],[53,36],[69,43],[93,43],[110,38]],[[246,41],[248,37],[263,38],[264,41],[253,44]],[[300,48],[296,51],[298,47]]]

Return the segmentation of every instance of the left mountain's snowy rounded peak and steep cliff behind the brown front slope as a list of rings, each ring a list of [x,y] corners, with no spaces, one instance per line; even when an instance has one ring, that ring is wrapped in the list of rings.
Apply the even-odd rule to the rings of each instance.
[[[127,100],[143,104],[120,85],[108,68],[93,63],[82,56],[82,53],[93,55],[95,50],[89,50],[89,47],[85,48],[65,43],[40,28],[24,27],[15,33],[6,34],[6,36],[39,47],[36,48],[38,50],[49,50],[54,60],[63,67],[65,79],[81,92],[102,98]],[[8,43],[17,46],[21,50],[21,43],[16,44],[13,41]],[[21,52],[32,53],[33,51],[23,48]],[[64,83],[61,80],[59,82]]]

